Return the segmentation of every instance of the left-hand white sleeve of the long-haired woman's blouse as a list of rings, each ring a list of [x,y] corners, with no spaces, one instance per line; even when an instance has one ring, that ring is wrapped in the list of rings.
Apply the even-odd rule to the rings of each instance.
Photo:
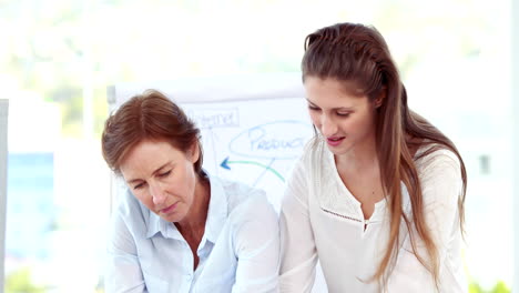
[[[299,161],[288,180],[281,209],[281,292],[312,292],[315,282],[317,251],[308,213],[308,181],[304,174]]]

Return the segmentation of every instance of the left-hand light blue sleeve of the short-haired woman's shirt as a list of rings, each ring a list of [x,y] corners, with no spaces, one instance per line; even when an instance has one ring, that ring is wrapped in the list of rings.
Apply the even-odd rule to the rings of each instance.
[[[106,293],[146,293],[135,242],[119,211],[112,216],[106,252]]]

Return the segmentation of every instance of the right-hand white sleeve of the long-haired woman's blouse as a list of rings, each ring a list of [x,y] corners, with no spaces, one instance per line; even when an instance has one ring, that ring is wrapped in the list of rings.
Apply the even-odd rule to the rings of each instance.
[[[448,267],[445,264],[448,262],[450,242],[460,236],[458,199],[462,181],[460,164],[454,153],[442,150],[430,155],[431,159],[421,159],[428,161],[419,171],[419,176],[425,220],[438,251],[439,277],[445,282],[448,279],[441,277],[446,273],[441,269]],[[411,233],[416,235],[416,231]],[[415,242],[419,255],[425,261],[429,260],[424,242],[418,236],[415,236]],[[456,284],[456,282],[444,283],[442,287],[446,285],[449,292],[466,292],[468,287],[467,284]],[[413,253],[409,235],[398,252],[398,259],[388,279],[387,292],[437,292],[432,275]]]

